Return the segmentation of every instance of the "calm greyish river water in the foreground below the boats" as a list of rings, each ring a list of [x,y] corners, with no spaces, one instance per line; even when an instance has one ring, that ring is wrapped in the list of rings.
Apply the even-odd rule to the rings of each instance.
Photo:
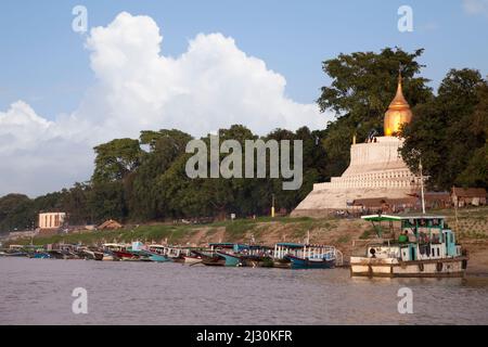
[[[413,313],[398,312],[402,287]],[[488,324],[488,278],[0,258],[0,324]]]

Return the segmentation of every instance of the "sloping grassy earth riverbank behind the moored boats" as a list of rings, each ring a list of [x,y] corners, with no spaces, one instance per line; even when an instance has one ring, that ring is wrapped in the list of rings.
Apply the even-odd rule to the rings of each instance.
[[[459,241],[468,250],[467,273],[488,275],[488,208],[433,211],[447,217]],[[44,245],[52,243],[100,244],[106,242],[156,242],[191,246],[203,246],[210,242],[240,242],[273,245],[277,242],[304,242],[334,245],[347,259],[354,250],[355,240],[373,240],[375,233],[371,224],[361,219],[339,218],[291,218],[261,217],[240,219],[208,224],[149,223],[127,226],[114,231],[84,231],[54,236],[37,236],[16,240],[16,244]]]

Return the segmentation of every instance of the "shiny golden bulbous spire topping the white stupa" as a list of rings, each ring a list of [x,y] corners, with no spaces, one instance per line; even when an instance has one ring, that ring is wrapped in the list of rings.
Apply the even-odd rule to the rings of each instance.
[[[400,70],[398,74],[397,94],[389,104],[388,111],[385,114],[385,137],[396,136],[399,132],[401,125],[412,120],[412,111],[403,97],[403,88],[401,83],[402,77]]]

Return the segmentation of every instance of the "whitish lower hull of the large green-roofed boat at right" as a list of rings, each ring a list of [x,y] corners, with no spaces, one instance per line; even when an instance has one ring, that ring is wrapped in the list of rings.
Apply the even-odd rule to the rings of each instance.
[[[462,278],[467,260],[467,257],[415,261],[351,257],[350,274],[369,278]]]

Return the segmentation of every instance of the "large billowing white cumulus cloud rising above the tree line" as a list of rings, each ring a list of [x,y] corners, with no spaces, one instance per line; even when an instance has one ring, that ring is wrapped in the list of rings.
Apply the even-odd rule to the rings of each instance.
[[[78,110],[48,121],[20,101],[0,113],[0,159],[8,167],[0,171],[0,195],[89,179],[93,145],[143,129],[202,136],[244,124],[264,134],[278,127],[323,128],[331,119],[316,104],[287,98],[283,76],[221,34],[200,34],[185,53],[170,57],[151,17],[123,12],[93,28],[86,47],[97,83]]]

